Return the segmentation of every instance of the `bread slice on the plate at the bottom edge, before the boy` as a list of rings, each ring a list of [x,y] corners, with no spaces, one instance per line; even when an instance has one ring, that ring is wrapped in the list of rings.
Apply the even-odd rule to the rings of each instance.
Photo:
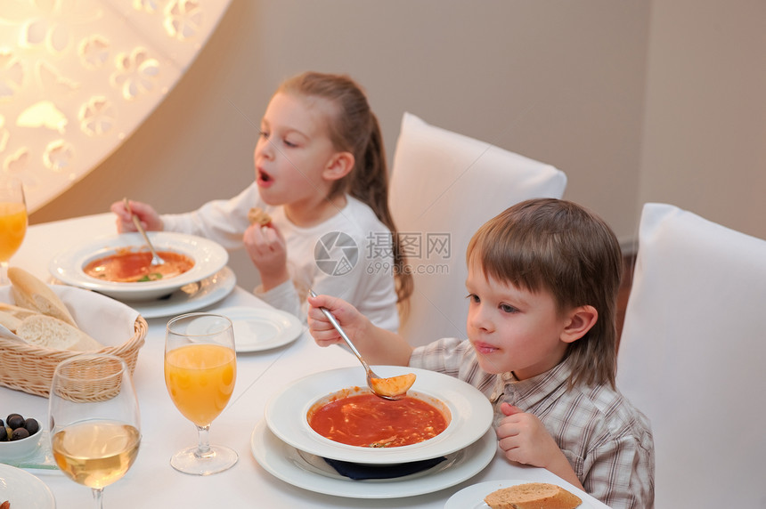
[[[526,482],[493,491],[484,499],[492,509],[574,509],[580,497],[555,484]]]

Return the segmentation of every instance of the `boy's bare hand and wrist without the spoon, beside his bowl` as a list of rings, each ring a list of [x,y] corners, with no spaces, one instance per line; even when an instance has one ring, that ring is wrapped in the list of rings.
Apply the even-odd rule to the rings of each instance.
[[[583,488],[569,460],[537,416],[508,403],[501,404],[501,411],[505,417],[496,432],[500,448],[507,459],[523,465],[542,467],[577,488]]]

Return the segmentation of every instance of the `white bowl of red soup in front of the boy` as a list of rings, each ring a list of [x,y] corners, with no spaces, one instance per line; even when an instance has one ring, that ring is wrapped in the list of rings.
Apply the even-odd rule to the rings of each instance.
[[[365,385],[364,369],[306,376],[275,393],[265,421],[290,446],[341,461],[392,465],[468,447],[492,424],[493,408],[475,387],[434,371],[376,366],[380,376],[414,373],[407,398],[382,400]]]

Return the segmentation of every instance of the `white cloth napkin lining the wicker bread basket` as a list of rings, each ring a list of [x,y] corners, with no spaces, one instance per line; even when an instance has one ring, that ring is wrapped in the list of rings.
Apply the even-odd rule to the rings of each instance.
[[[50,287],[66,304],[77,327],[104,346],[119,346],[135,334],[135,319],[139,313],[126,304],[82,288]],[[0,302],[15,304],[10,286],[0,287]],[[6,335],[3,331],[0,334]],[[11,334],[10,331],[7,334]]]

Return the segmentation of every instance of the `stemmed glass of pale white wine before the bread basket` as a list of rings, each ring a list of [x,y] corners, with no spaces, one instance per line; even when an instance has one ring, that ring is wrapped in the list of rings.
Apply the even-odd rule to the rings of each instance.
[[[141,443],[141,417],[125,360],[85,353],[61,361],[48,400],[51,448],[69,479],[93,490],[103,507],[103,489],[133,465]]]

